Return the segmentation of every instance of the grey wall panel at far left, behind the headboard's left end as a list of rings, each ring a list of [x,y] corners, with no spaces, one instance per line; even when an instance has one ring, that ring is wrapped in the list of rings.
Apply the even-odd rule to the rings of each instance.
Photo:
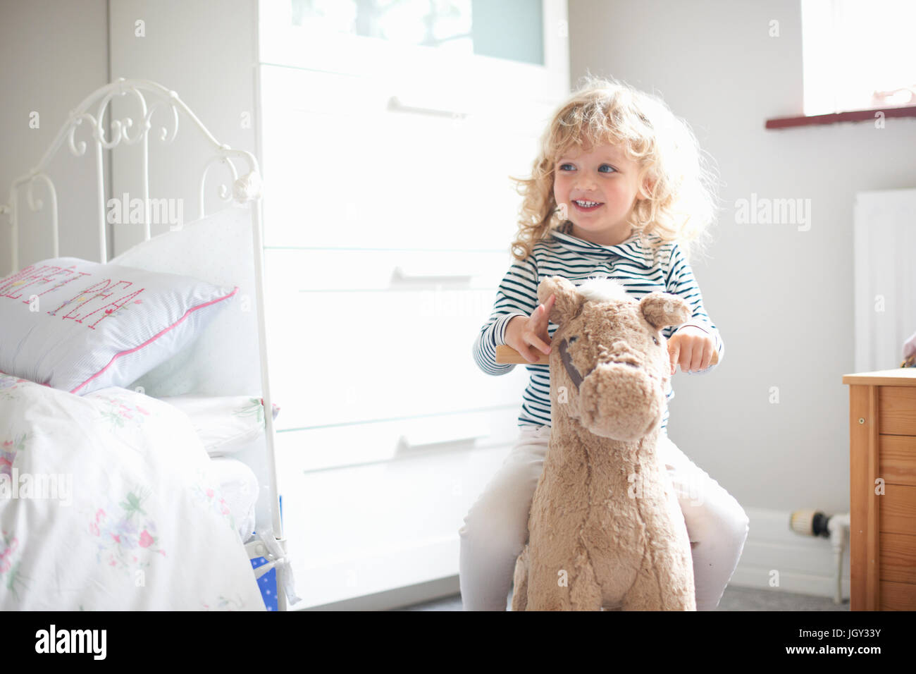
[[[105,0],[30,0],[0,2],[0,203],[16,177],[38,164],[72,108],[108,81],[107,3]],[[29,115],[38,112],[38,128]],[[87,138],[78,135],[77,139]],[[63,149],[51,164],[61,213],[60,254],[94,260],[97,213],[93,156],[75,158]],[[60,172],[58,172],[60,171]],[[40,195],[40,190],[37,195]],[[25,211],[20,232],[20,266],[51,257],[50,214]],[[47,198],[43,201],[48,203]],[[75,215],[81,214],[81,215]],[[82,214],[89,214],[86,217]],[[0,216],[0,276],[9,271],[9,226]]]

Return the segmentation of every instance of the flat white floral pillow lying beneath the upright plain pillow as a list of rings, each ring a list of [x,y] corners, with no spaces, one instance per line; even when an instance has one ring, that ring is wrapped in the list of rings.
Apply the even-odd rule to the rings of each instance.
[[[191,424],[211,457],[223,457],[249,447],[264,435],[264,401],[246,395],[178,395],[161,398],[191,418]],[[279,407],[275,404],[274,418]]]

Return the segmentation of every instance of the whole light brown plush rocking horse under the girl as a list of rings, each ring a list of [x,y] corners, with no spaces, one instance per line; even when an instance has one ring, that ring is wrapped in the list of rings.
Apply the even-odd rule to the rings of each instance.
[[[518,556],[513,611],[695,611],[691,544],[656,441],[677,295],[554,276],[551,444]]]

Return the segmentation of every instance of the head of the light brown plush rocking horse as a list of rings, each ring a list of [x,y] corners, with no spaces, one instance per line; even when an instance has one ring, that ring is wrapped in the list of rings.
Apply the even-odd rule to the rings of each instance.
[[[661,328],[680,325],[690,310],[680,297],[627,295],[611,279],[578,288],[559,276],[544,279],[538,299],[556,301],[551,323],[551,380],[565,395],[551,404],[596,436],[630,442],[649,434],[664,414],[671,360]],[[565,400],[565,402],[564,402]]]

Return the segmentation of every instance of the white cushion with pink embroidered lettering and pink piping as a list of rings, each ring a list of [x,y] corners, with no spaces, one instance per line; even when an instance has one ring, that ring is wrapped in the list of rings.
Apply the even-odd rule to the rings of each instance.
[[[125,387],[190,344],[237,290],[42,260],[0,281],[0,371],[80,395]]]

